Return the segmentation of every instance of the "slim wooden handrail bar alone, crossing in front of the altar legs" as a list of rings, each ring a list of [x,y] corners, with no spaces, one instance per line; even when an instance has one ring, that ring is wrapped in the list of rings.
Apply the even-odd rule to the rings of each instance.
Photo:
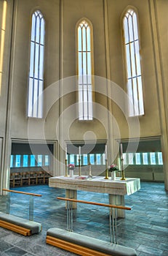
[[[122,209],[122,210],[131,210],[130,207],[109,205],[107,203],[96,203],[96,202],[89,202],[89,201],[84,201],[84,200],[76,200],[76,199],[65,198],[65,197],[57,197],[57,199],[58,200],[65,200],[65,201],[76,202],[76,203],[87,203],[87,204],[94,205],[94,206],[105,206],[105,207],[111,207],[111,208],[118,208],[118,209]]]

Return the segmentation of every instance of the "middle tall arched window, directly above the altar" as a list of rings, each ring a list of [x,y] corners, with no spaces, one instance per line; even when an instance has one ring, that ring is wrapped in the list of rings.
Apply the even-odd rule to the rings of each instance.
[[[85,19],[82,20],[77,26],[77,38],[79,120],[92,120],[92,26]]]

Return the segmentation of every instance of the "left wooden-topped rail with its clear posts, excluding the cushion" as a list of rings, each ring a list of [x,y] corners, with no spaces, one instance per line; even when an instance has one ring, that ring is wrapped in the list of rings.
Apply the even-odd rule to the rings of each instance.
[[[33,197],[41,197],[39,194],[34,194],[34,193],[28,193],[28,192],[22,192],[22,191],[16,191],[16,190],[11,190],[11,189],[2,189],[4,192],[7,193],[7,214],[10,212],[10,193],[17,193],[17,194],[22,194],[22,195],[30,195],[30,200],[29,200],[29,220],[33,220]]]

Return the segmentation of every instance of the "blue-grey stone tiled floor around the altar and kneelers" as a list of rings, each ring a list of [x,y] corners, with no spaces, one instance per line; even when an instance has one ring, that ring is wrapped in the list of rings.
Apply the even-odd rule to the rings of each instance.
[[[34,199],[34,221],[41,222],[43,230],[38,235],[25,237],[0,227],[1,256],[60,256],[73,255],[45,243],[49,227],[66,229],[64,189],[44,186],[21,187],[16,190],[41,194]],[[108,195],[78,192],[78,199],[108,203]],[[0,211],[5,211],[6,196],[0,197]],[[28,219],[29,196],[12,193],[10,213]],[[126,196],[125,219],[117,220],[118,244],[132,247],[139,256],[168,255],[168,192],[163,183],[141,182],[140,191]],[[110,241],[108,209],[79,204],[73,214],[73,230],[86,236]]]

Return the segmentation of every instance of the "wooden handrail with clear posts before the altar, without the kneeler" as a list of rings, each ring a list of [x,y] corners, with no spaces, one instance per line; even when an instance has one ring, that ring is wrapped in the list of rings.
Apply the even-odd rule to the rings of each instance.
[[[126,206],[116,206],[116,205],[111,205],[107,203],[97,203],[97,202],[90,202],[85,200],[76,200],[73,198],[66,198],[66,197],[57,197],[57,199],[67,201],[67,230],[68,231],[73,231],[73,203],[86,203],[93,206],[108,207],[110,209],[109,211],[110,238],[111,238],[111,243],[113,244],[117,244],[116,209],[122,209],[122,210],[128,210],[128,211],[132,209]]]

